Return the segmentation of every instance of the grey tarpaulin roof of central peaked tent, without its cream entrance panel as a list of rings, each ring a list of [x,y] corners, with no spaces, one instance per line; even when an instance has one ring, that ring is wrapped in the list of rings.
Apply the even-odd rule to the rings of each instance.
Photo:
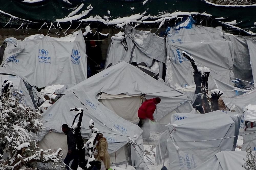
[[[80,89],[95,98],[100,92],[110,95],[145,94],[147,99],[160,97],[161,102],[157,104],[157,114],[154,114],[155,121],[159,121],[179,107],[184,108],[182,109],[183,112],[190,112],[193,109],[191,104],[188,103],[188,98],[183,93],[164,85],[139,68],[124,61],[114,64],[76,86],[67,89],[65,93]]]

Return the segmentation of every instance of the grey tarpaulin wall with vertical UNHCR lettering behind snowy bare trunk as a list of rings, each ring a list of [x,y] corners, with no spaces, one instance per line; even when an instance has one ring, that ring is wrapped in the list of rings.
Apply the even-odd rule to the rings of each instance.
[[[230,76],[234,76],[232,72],[232,42],[223,40],[180,44],[168,42],[168,40],[169,37],[167,37],[167,56],[170,57],[170,63],[165,78],[167,84],[175,88],[189,87],[195,84],[191,63],[182,56],[182,51],[187,51],[195,59],[198,67],[205,66],[210,69],[209,89],[216,88],[213,78],[233,85],[230,79]]]

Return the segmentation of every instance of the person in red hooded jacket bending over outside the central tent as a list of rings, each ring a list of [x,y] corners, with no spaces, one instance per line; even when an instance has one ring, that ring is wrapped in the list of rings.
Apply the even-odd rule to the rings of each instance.
[[[150,124],[148,120],[155,121],[153,114],[156,110],[156,104],[160,102],[161,98],[159,97],[148,99],[142,103],[138,110],[138,117],[140,118],[138,126],[143,130],[142,136],[144,138],[150,138]]]

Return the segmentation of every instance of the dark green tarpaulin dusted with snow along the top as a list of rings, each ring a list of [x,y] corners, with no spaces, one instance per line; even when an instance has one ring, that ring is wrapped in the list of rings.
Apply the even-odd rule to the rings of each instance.
[[[0,15],[0,23],[2,28],[11,16],[31,22],[57,23],[56,20],[68,17],[74,10],[77,10],[77,13],[73,15],[75,19],[71,19],[72,23],[79,22],[81,19],[86,19],[90,16],[100,16],[102,20],[111,21],[119,17],[135,14],[141,14],[140,17],[135,17],[136,20],[156,20],[163,17],[162,15],[164,14],[177,11],[198,12],[201,14],[205,12],[210,14],[212,19],[223,17],[224,19],[220,21],[226,22],[236,20],[234,26],[242,29],[255,27],[254,22],[256,22],[256,5],[218,6],[204,0],[34,0],[39,1],[34,3],[23,1],[0,0],[0,12],[2,13]],[[90,4],[92,8],[90,8]],[[142,18],[143,16],[144,18]],[[130,18],[127,19],[129,20]],[[247,29],[247,31],[251,30]]]

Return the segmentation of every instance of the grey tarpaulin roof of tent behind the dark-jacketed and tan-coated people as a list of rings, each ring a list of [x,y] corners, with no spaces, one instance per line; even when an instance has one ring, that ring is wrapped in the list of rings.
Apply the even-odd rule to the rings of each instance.
[[[71,126],[76,112],[71,112],[70,108],[73,108],[74,106],[84,108],[81,125],[82,137],[85,139],[91,137],[91,130],[87,129],[89,129],[89,121],[92,119],[95,127],[98,128],[100,132],[103,132],[102,134],[107,139],[110,153],[119,150],[129,142],[129,139],[126,136],[139,137],[141,135],[142,130],[137,125],[122,119],[106,108],[97,99],[90,97],[84,90],[77,90],[75,91],[75,94],[79,99],[74,93],[67,93],[42,113],[42,121],[46,128],[38,135],[39,141],[49,133],[50,129],[52,132],[62,133],[62,124],[66,123]],[[88,110],[81,104],[81,102]],[[134,138],[134,140],[136,139],[137,138]]]

